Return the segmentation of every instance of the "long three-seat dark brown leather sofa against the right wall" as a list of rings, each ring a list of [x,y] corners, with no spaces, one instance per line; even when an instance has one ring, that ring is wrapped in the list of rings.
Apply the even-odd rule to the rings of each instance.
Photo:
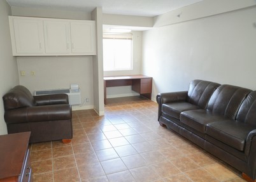
[[[256,181],[256,91],[194,80],[157,94],[161,126],[176,131]]]

